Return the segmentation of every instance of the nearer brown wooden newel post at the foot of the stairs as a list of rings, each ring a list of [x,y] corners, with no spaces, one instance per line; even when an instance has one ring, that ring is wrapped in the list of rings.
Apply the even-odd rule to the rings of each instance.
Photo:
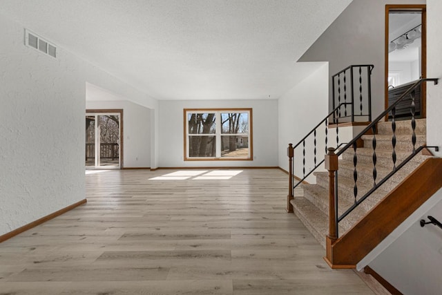
[[[328,148],[328,153],[325,155],[325,169],[329,171],[329,234],[326,238],[327,244],[327,260],[333,264],[332,245],[338,239],[336,233],[336,211],[335,202],[336,196],[334,194],[334,177],[335,172],[338,171],[338,156],[334,153],[334,148]]]

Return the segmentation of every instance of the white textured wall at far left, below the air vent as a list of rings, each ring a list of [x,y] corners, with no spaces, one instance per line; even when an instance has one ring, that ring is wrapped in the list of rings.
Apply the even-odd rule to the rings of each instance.
[[[0,234],[84,199],[84,93],[79,61],[23,45],[0,15]]]

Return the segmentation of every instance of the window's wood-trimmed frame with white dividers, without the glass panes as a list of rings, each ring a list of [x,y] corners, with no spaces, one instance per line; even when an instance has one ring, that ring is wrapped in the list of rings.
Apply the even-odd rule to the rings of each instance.
[[[215,157],[190,157],[189,156],[189,113],[215,113],[215,133],[196,136],[215,136]],[[249,155],[247,157],[222,157],[221,156],[221,137],[229,136],[229,133],[222,133],[220,124],[221,113],[248,113],[249,130],[248,133],[238,133],[238,135],[248,135],[249,139]],[[251,161],[253,160],[253,116],[252,108],[184,108],[184,161]],[[195,136],[195,135],[191,135]],[[230,135],[233,136],[233,135]],[[219,155],[219,156],[217,156]]]

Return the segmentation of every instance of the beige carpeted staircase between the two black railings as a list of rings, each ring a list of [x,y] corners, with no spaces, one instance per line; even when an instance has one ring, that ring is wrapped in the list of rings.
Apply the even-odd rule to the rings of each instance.
[[[412,152],[412,124],[408,121],[396,122],[396,166],[400,164]],[[425,119],[416,120],[416,148],[425,145]],[[381,180],[393,168],[392,160],[392,122],[379,122],[376,135],[363,135],[363,147],[356,150],[356,171],[357,171],[357,198],[361,198],[373,187],[373,147],[372,139],[376,137],[376,180]],[[361,142],[362,144],[362,142]],[[410,162],[405,164],[387,182],[381,185],[371,196],[361,203],[354,211],[339,223],[339,236],[351,229],[358,220],[367,214],[387,193],[390,193],[398,186],[417,166],[419,166],[429,155],[416,155]],[[315,172],[316,184],[302,184],[296,189],[291,204],[294,213],[302,223],[311,231],[311,234],[326,247],[325,237],[328,234],[328,206],[329,206],[329,177],[328,172]],[[347,149],[338,161],[338,213],[345,212],[355,202],[354,198],[354,150]]]

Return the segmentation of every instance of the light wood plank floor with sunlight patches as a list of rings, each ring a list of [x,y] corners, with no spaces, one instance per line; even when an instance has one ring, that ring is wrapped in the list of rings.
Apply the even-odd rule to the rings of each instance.
[[[0,244],[0,294],[373,294],[286,196],[278,169],[87,174],[87,204]]]

